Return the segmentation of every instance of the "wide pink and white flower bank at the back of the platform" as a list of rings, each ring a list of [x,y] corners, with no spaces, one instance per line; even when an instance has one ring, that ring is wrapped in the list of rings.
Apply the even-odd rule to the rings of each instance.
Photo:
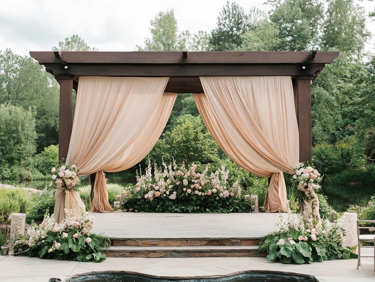
[[[129,193],[130,199],[124,201],[126,206],[123,208],[133,208],[129,206],[133,201],[142,206],[142,211],[205,212],[226,209],[239,200],[242,188],[237,181],[228,183],[229,172],[224,166],[212,173],[208,173],[209,166],[200,172],[197,168],[196,164],[186,169],[175,163],[169,166],[163,163],[163,168],[154,167],[152,173],[149,164],[144,175],[137,173],[137,184]],[[137,203],[134,203],[135,199],[138,199]],[[176,209],[168,209],[169,206]]]

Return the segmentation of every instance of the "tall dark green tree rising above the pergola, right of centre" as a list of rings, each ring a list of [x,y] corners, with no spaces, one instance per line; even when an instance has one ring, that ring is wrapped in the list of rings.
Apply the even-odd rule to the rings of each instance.
[[[236,2],[227,1],[217,17],[216,28],[211,31],[212,51],[233,51],[241,46],[241,36],[249,29],[249,17],[243,8]]]

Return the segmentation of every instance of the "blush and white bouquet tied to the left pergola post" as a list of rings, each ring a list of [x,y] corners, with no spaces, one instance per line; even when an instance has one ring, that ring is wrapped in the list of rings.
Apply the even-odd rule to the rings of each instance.
[[[56,188],[62,188],[67,194],[74,189],[77,191],[76,184],[80,180],[77,176],[77,172],[80,170],[75,164],[64,164],[62,163],[57,169],[52,167],[52,180],[53,182],[49,186],[55,186]]]

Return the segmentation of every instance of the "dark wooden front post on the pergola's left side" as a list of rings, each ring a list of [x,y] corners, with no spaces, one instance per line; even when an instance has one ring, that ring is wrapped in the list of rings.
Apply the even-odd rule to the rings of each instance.
[[[58,76],[60,82],[60,109],[58,119],[58,160],[66,159],[72,134],[73,80],[70,75]]]

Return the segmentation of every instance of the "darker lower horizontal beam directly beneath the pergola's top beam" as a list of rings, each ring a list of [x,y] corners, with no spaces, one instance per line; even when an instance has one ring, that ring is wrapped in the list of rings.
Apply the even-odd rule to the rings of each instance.
[[[60,64],[45,63],[54,75],[73,76],[296,76],[314,75],[325,64],[311,64],[306,70],[301,64]]]

